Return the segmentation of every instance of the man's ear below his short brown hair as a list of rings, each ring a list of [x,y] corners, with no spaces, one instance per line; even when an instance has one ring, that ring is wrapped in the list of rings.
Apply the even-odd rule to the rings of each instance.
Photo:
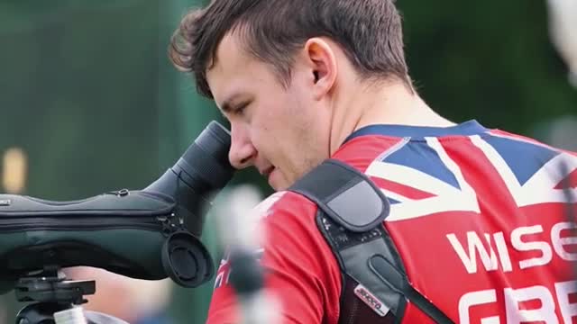
[[[320,99],[331,91],[336,81],[334,51],[328,42],[318,37],[307,40],[304,50],[312,73],[315,99]]]

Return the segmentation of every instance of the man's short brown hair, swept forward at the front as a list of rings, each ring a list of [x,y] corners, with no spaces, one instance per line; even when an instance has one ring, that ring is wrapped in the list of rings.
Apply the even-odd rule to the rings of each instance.
[[[206,70],[234,30],[285,85],[294,53],[308,39],[325,36],[342,46],[360,76],[397,77],[412,88],[394,0],[212,0],[183,18],[169,46],[170,60],[195,75],[200,94],[212,98]]]

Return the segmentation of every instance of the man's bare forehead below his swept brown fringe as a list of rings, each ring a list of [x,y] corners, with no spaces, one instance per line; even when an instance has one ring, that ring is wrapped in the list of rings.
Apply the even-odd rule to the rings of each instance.
[[[249,54],[242,41],[237,33],[226,34],[216,49],[214,64],[206,70],[206,81],[216,103],[230,94],[275,81],[270,67]]]

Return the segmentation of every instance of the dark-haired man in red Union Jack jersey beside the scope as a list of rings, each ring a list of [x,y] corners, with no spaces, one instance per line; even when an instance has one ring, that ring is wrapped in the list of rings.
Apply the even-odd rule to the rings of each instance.
[[[283,322],[352,323],[372,311],[361,297],[340,300],[316,204],[285,191],[329,157],[386,194],[384,226],[408,282],[451,320],[577,315],[577,238],[565,218],[577,159],[428,107],[408,76],[392,0],[214,0],[184,18],[170,56],[230,121],[231,163],[258,168],[279,192],[263,202],[261,264]],[[222,265],[209,323],[239,320]],[[384,315],[375,322],[432,321],[412,302]]]

